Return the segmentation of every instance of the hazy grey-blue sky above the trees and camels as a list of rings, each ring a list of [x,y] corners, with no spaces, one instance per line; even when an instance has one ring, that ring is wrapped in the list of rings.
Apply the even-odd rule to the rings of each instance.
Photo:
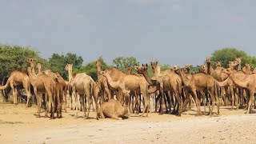
[[[170,66],[202,64],[223,47],[256,56],[256,1],[2,0],[0,43],[84,63],[119,56]]]

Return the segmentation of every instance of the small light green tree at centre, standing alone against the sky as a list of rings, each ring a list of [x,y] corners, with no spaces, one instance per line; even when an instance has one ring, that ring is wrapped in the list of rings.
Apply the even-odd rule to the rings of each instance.
[[[122,71],[126,71],[126,68],[129,66],[138,66],[139,62],[137,62],[137,59],[134,57],[124,58],[124,57],[118,57],[113,59],[114,66],[117,66],[118,69]]]

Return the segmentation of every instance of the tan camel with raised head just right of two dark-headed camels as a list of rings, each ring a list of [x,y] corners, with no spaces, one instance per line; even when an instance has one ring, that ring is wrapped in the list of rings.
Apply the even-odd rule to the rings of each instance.
[[[160,66],[158,66],[158,62],[150,62],[152,69],[154,71],[154,77],[160,84],[160,93],[163,96],[164,91],[173,91],[174,97],[178,101],[178,111],[176,111],[177,116],[181,116],[182,114],[182,79],[178,74],[174,73],[173,70],[166,70],[160,73]],[[163,113],[163,112],[162,112]]]

